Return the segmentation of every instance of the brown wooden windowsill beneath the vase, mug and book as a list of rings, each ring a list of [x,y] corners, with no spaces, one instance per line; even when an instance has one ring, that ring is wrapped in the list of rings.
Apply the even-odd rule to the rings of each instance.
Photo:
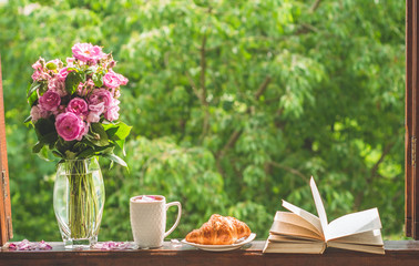
[[[255,241],[242,249],[213,253],[188,245],[173,245],[144,250],[67,250],[61,243],[52,243],[52,250],[1,250],[0,265],[419,265],[419,242],[386,242],[386,254],[376,255],[343,249],[326,249],[325,254],[263,254],[263,241]]]

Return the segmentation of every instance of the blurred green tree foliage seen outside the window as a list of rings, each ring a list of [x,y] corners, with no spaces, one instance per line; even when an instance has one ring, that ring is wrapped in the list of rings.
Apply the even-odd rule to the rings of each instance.
[[[285,198],[329,221],[378,206],[402,237],[405,2],[399,0],[13,0],[0,52],[14,239],[59,241],[54,163],[24,127],[31,64],[76,42],[113,51],[130,79],[126,162],[108,170],[101,241],[132,239],[129,198],[183,204],[184,237],[211,214],[265,238]],[[173,216],[173,217],[172,217]],[[175,209],[168,217],[172,223]]]

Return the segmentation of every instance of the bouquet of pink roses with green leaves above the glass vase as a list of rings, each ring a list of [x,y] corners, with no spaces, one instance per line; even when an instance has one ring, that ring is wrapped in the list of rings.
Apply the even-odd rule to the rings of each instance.
[[[38,136],[34,153],[48,149],[63,160],[102,155],[126,166],[113,151],[124,150],[131,126],[119,121],[120,86],[127,79],[113,71],[115,61],[102,48],[76,43],[65,63],[40,58],[28,89],[32,124]]]

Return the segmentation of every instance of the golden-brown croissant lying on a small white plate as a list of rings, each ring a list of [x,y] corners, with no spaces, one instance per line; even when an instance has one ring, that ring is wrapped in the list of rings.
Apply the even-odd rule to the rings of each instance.
[[[251,235],[251,228],[234,217],[213,214],[200,229],[186,235],[186,241],[202,245],[231,245]]]

